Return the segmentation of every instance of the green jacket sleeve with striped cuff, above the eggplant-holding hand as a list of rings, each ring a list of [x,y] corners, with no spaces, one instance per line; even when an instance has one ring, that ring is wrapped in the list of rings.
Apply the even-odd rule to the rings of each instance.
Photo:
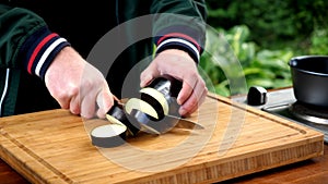
[[[203,51],[207,9],[203,0],[154,0],[153,35],[156,52],[167,48],[187,51],[195,61]]]

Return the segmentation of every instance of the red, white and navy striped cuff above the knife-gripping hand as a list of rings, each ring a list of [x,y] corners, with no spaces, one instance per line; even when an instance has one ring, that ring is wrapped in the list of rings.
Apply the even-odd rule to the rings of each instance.
[[[21,52],[25,56],[23,63],[30,74],[44,78],[45,73],[57,53],[70,44],[46,27],[30,36]]]

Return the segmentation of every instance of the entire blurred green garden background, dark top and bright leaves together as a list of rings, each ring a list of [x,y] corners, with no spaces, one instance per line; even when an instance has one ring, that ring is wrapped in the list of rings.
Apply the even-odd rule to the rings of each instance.
[[[288,62],[292,57],[328,56],[327,0],[207,0],[207,23],[226,38],[242,65],[247,88],[291,86]],[[218,39],[212,36],[207,39]],[[204,52],[200,61],[214,85],[209,89],[222,96],[236,95],[220,64],[213,62],[218,47],[223,47],[216,44],[206,46],[211,54]]]

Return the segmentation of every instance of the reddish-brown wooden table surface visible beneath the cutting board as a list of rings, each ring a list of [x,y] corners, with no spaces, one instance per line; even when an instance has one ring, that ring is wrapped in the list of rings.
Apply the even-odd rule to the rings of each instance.
[[[325,155],[319,158],[276,168],[272,170],[233,179],[225,183],[236,184],[323,184],[328,181],[328,145],[325,145]],[[0,160],[1,184],[27,184],[28,182]]]

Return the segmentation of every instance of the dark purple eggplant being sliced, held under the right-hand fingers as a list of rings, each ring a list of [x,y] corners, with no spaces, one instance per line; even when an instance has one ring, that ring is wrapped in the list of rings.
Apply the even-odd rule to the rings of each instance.
[[[181,83],[173,77],[155,78],[140,90],[141,99],[129,99],[125,105],[125,110],[132,116],[130,122],[140,123],[142,131],[152,134],[172,130],[179,119],[169,119],[167,115],[178,115],[176,97],[180,87]]]

